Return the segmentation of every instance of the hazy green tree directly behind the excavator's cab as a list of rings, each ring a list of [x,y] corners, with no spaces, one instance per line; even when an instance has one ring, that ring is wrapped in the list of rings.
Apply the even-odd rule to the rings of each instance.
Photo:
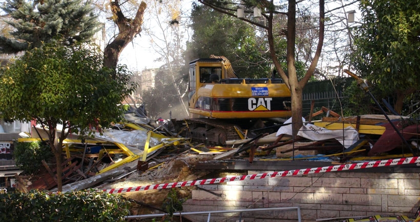
[[[218,13],[211,7],[193,5],[191,41],[187,42],[185,60],[225,56],[242,78],[266,78],[270,70],[267,41],[258,30],[236,18]]]

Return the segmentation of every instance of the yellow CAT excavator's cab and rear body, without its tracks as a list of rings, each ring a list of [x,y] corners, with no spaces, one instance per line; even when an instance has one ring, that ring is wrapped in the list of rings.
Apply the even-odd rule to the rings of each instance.
[[[201,117],[291,116],[290,90],[281,79],[237,78],[226,58],[191,61],[188,96],[190,114]]]

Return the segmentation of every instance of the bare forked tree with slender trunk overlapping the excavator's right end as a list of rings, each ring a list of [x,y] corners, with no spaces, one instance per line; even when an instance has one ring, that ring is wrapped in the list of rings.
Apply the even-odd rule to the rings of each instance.
[[[318,60],[321,55],[322,46],[324,43],[324,30],[325,30],[325,10],[324,5],[325,1],[320,0],[319,4],[313,4],[310,1],[296,1],[296,0],[288,0],[287,4],[285,2],[276,2],[274,3],[273,0],[263,0],[263,1],[256,1],[256,0],[242,0],[240,4],[226,2],[223,0],[198,0],[201,4],[211,7],[220,13],[237,17],[236,9],[237,7],[243,7],[246,9],[253,9],[254,7],[258,7],[261,9],[261,16],[265,18],[264,23],[259,23],[253,20],[250,17],[243,17],[238,18],[240,20],[246,21],[247,23],[253,24],[262,30],[265,31],[267,35],[267,41],[269,45],[269,55],[274,63],[276,70],[278,71],[281,78],[284,80],[286,85],[291,91],[291,109],[292,118],[293,118],[293,135],[296,135],[299,129],[302,127],[302,99],[303,99],[303,88],[305,87],[306,83],[311,79],[313,73],[316,69],[318,64]],[[316,45],[316,49],[314,50],[311,62],[309,66],[306,68],[305,75],[302,78],[299,78],[298,72],[296,69],[296,21],[297,17],[299,17],[299,10],[300,6],[309,5],[307,8],[310,10],[310,7],[317,7],[319,8],[318,13],[318,26],[312,27],[313,29],[318,30],[318,42]],[[305,7],[306,8],[306,7]],[[287,17],[287,24],[286,27],[283,27],[281,30],[274,29],[274,17],[276,16],[286,16]],[[276,39],[278,38],[285,38],[286,39],[286,55],[277,55],[277,47]],[[281,59],[285,58],[286,66],[281,63]],[[287,72],[285,71],[287,70]]]

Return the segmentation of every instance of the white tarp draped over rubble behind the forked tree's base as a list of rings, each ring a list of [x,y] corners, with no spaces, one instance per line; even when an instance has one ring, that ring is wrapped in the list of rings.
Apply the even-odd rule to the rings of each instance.
[[[303,118],[302,118],[303,119]],[[304,119],[303,119],[304,120]],[[284,124],[290,123],[291,118],[287,119]],[[280,134],[292,135],[292,125],[280,127],[276,136]],[[298,132],[298,136],[313,141],[320,141],[326,139],[337,139],[344,147],[348,148],[353,143],[359,140],[359,133],[352,127],[346,127],[340,130],[328,130],[313,124],[303,124]]]

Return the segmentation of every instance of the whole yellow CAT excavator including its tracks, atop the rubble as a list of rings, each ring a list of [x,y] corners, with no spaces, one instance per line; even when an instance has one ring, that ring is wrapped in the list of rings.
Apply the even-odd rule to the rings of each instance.
[[[291,116],[290,90],[282,79],[238,78],[225,57],[213,55],[191,61],[189,75],[187,136],[193,139],[224,144],[238,139],[238,129],[264,128],[267,119]]]

